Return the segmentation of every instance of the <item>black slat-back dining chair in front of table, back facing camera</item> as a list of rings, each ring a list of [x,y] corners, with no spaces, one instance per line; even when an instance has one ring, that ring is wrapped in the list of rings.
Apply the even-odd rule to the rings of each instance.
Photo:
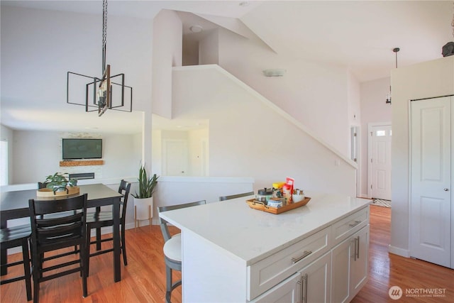
[[[87,297],[87,194],[55,200],[30,199],[28,207],[32,228],[33,302],[39,302],[40,282],[74,272],[82,275],[82,295]],[[46,216],[49,214],[57,216]],[[76,246],[79,249],[75,251],[61,250]],[[74,253],[79,255],[77,260],[65,258]]]

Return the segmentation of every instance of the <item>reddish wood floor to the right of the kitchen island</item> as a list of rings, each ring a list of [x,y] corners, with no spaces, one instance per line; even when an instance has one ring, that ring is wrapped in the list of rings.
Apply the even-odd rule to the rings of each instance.
[[[454,302],[454,270],[421,260],[388,253],[391,209],[370,206],[369,280],[353,298],[362,302]],[[393,300],[388,291],[392,286],[406,289],[444,288],[445,297],[406,297]]]

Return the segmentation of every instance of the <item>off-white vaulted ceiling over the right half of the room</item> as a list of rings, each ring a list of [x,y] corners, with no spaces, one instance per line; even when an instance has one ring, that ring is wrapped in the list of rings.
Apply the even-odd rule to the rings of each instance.
[[[395,47],[399,66],[441,57],[453,13],[453,1],[284,1],[242,20],[277,53],[346,65],[364,82],[389,77]]]

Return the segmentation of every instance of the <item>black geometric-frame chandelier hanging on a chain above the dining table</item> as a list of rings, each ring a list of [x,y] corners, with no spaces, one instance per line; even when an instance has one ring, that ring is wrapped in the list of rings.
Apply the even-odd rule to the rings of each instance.
[[[133,110],[133,88],[125,85],[125,75],[111,75],[106,65],[107,0],[102,13],[102,77],[91,77],[67,72],[66,103],[85,106],[85,111],[98,111],[102,116],[107,109]]]

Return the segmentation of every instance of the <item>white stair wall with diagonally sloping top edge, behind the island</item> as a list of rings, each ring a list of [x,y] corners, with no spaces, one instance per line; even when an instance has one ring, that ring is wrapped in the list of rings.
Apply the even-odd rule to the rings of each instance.
[[[226,76],[216,65],[174,69],[174,115],[209,119],[211,177],[253,177],[355,196],[355,167]]]

